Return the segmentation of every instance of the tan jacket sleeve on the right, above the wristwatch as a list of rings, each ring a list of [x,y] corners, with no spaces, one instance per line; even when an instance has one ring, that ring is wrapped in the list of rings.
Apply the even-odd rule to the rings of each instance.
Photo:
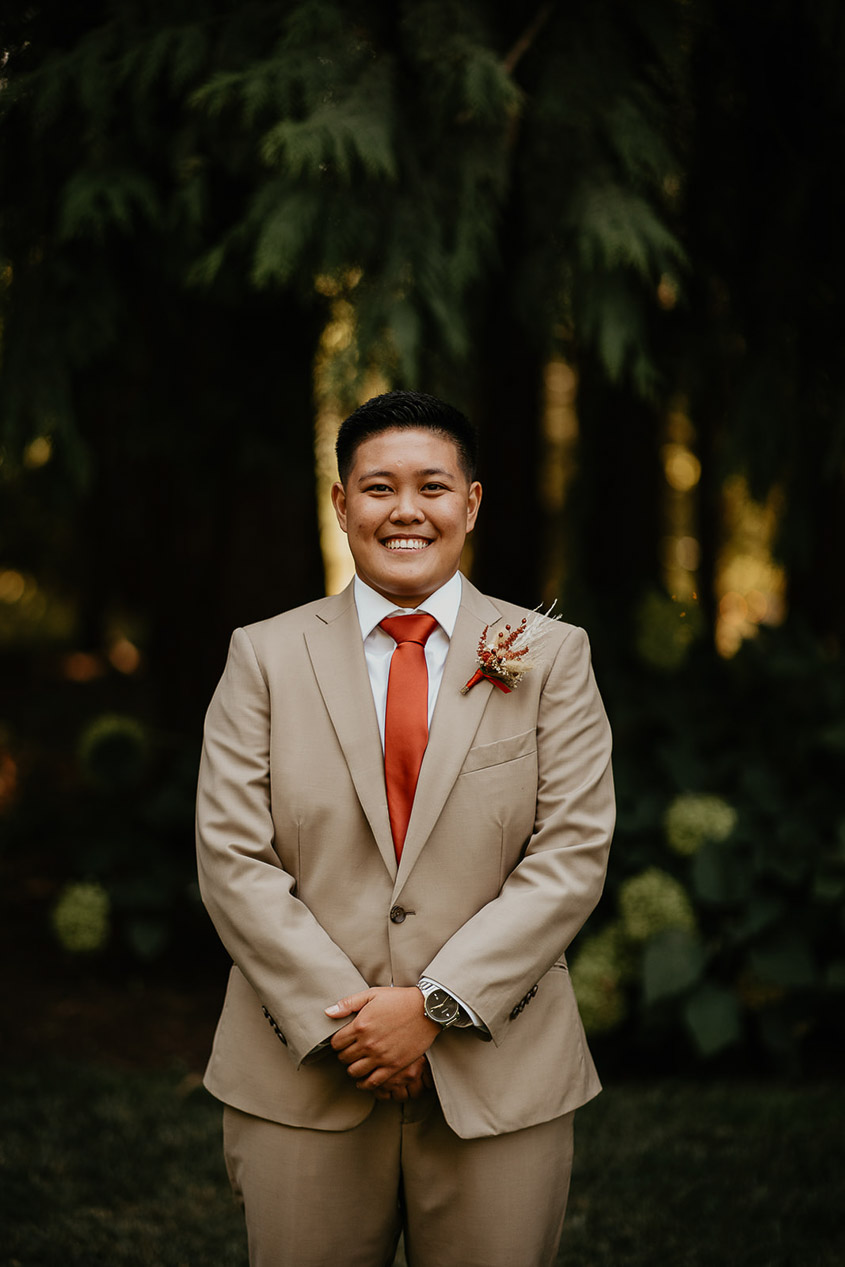
[[[536,731],[536,817],[523,856],[426,968],[474,1007],[497,1045],[514,1002],[561,959],[604,884],[616,816],[611,731],[580,628],[549,670]]]

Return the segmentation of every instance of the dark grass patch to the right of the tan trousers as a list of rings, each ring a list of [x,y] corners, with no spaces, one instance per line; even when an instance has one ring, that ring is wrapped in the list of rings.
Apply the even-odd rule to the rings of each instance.
[[[575,1121],[568,1267],[842,1267],[845,1085],[611,1087]]]

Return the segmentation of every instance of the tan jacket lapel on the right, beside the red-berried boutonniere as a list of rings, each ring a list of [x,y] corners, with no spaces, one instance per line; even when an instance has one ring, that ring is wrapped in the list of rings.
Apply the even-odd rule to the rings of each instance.
[[[467,694],[461,694],[461,687],[475,669],[475,650],[481,631],[485,625],[493,625],[499,617],[500,612],[490,599],[464,578],[461,607],[446,656],[428,746],[419,770],[397,875],[397,892],[410,873],[440,817],[466,759],[490,692],[495,691],[492,683],[481,680]]]

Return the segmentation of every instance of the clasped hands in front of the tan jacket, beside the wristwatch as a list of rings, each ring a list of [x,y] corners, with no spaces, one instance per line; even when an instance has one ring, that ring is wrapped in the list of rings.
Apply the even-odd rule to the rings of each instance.
[[[440,1034],[416,986],[374,986],[338,1000],[327,1016],[352,1016],[332,1048],[361,1091],[378,1100],[414,1100],[432,1086],[426,1052]]]

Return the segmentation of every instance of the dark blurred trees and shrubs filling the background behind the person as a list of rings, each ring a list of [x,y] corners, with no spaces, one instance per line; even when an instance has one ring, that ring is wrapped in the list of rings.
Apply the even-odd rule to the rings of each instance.
[[[219,969],[191,822],[229,631],[343,583],[337,422],[419,386],[481,432],[474,580],[593,641],[619,826],[571,959],[603,1058],[829,1060],[844,54],[834,0],[8,0],[18,948]]]

